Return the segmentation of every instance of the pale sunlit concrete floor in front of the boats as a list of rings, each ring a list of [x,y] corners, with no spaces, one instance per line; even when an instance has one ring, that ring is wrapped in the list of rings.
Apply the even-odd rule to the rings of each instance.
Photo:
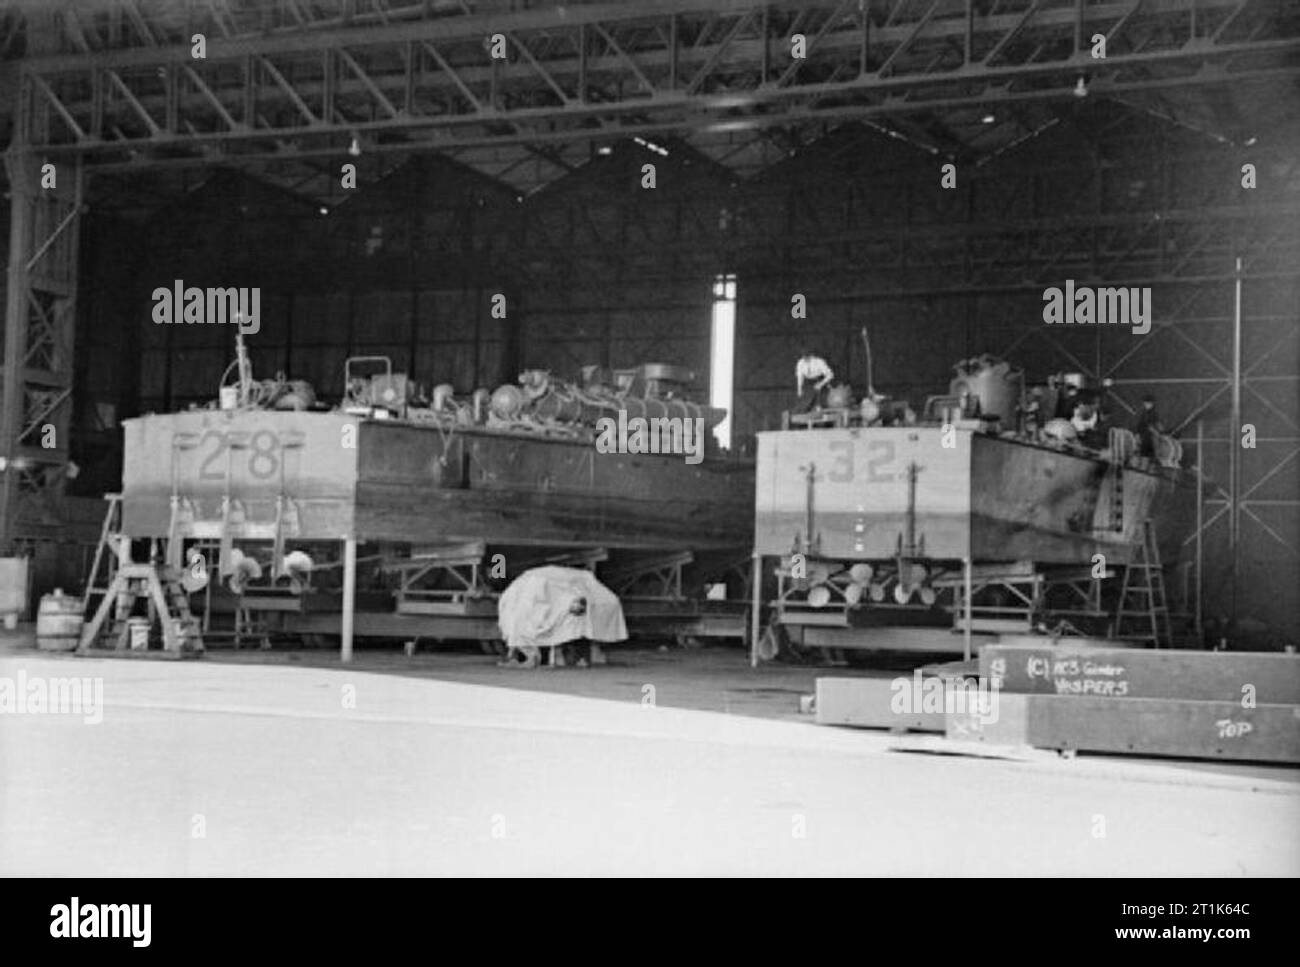
[[[890,751],[798,715],[826,669],[736,651],[510,672],[0,641],[20,672],[101,677],[104,710],[0,716],[8,875],[1300,873],[1295,769]]]

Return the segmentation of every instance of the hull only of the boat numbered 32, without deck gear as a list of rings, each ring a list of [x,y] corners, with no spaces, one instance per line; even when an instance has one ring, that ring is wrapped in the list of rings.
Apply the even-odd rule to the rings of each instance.
[[[759,554],[833,560],[1127,564],[1152,519],[1167,563],[1195,512],[1174,472],[939,426],[760,433],[755,486]]]

